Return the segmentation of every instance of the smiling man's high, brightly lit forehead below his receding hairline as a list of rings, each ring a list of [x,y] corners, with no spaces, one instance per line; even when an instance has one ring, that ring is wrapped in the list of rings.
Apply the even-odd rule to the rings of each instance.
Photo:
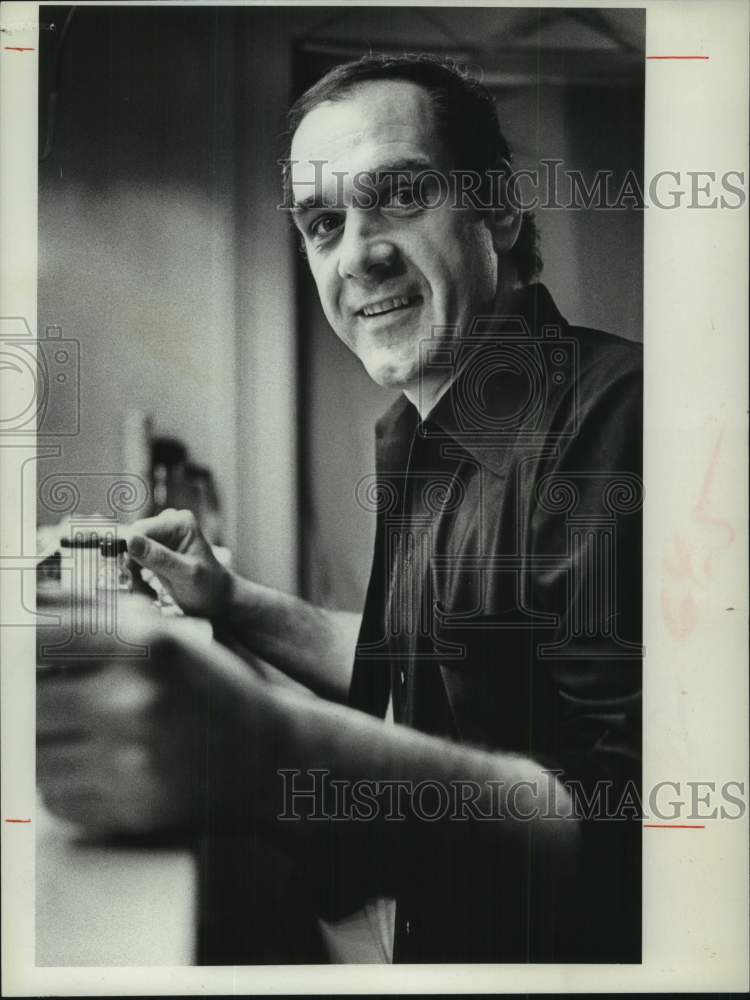
[[[293,184],[308,175],[356,173],[404,159],[439,156],[429,95],[407,81],[359,85],[326,101],[302,119],[291,148]]]

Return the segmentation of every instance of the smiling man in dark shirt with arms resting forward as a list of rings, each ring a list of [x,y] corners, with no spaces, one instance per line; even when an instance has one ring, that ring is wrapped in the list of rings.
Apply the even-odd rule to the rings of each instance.
[[[140,522],[133,558],[260,662],[126,608],[147,668],[39,685],[46,799],[95,831],[258,832],[314,912],[395,898],[394,961],[637,961],[633,811],[574,807],[638,787],[639,352],[529,283],[492,100],[452,67],[339,67],[290,133],[325,315],[402,392],[364,615],[229,573],[185,512]]]

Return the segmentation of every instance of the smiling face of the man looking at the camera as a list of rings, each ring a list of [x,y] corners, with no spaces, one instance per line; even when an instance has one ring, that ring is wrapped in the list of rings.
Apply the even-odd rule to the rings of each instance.
[[[427,93],[405,81],[367,82],[321,104],[302,119],[291,160],[295,223],[328,322],[378,384],[415,390],[420,340],[435,327],[464,332],[491,309],[497,286],[481,216],[452,207],[445,192],[444,204],[425,206],[408,181],[374,183],[386,171],[447,173]],[[368,175],[372,186],[362,182]]]

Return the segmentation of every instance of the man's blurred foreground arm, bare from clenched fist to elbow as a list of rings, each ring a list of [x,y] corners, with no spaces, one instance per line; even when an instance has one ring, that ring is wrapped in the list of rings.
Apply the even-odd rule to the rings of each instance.
[[[80,620],[86,609],[76,610]],[[314,894],[329,878],[335,847],[336,877],[351,882],[346,906],[394,891],[402,863],[422,859],[425,872],[439,871],[452,842],[515,865],[533,828],[561,870],[577,850],[570,796],[532,760],[386,727],[265,684],[218,643],[191,634],[184,619],[165,621],[142,598],[118,601],[116,636],[76,634],[66,609],[45,611],[63,613],[60,625],[37,630],[39,785],[54,814],[90,834],[257,832],[304,863]],[[128,643],[147,655],[134,656],[138,646]],[[331,780],[311,794],[315,774]],[[453,822],[466,817],[449,809],[440,822],[424,822],[409,790],[425,782],[446,790],[468,783],[479,815],[504,821]],[[346,795],[337,804],[335,791],[363,783],[376,790],[365,823]],[[403,823],[392,821],[394,788],[406,790]],[[511,813],[510,788],[520,791],[522,821]],[[334,815],[341,822],[321,823]]]

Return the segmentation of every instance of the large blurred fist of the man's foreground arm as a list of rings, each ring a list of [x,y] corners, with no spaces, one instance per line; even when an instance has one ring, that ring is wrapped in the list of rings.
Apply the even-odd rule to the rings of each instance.
[[[70,609],[45,610],[60,615],[38,629],[37,780],[49,810],[93,835],[241,829],[265,685],[141,598],[118,600],[110,637],[75,635]]]

